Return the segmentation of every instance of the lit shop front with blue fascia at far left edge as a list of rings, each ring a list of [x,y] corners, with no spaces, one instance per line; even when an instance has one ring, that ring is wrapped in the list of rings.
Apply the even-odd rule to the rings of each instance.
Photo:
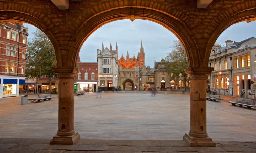
[[[25,77],[0,76],[0,98],[19,96],[20,89],[23,90]]]

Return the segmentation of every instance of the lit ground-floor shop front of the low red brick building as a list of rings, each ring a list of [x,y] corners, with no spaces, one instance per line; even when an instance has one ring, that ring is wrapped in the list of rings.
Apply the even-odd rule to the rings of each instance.
[[[77,85],[78,91],[84,91],[84,92],[96,92],[97,89],[97,82],[95,81],[78,81],[75,82],[75,85]]]

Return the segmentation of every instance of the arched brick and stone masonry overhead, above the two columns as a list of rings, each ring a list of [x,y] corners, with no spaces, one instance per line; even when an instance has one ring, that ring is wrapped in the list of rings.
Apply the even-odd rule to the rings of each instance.
[[[57,3],[68,9],[60,10]],[[83,42],[102,25],[121,19],[163,25],[185,47],[191,70],[207,69],[218,36],[230,25],[254,21],[255,16],[256,0],[0,1],[1,22],[27,22],[40,28],[55,47],[58,67],[71,69]]]

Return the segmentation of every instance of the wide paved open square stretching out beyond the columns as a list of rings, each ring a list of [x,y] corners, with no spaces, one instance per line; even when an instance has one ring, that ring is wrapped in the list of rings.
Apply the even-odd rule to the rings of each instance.
[[[0,99],[1,142],[12,138],[50,141],[58,130],[58,96],[54,96],[50,101],[27,105],[20,105],[20,97]],[[231,106],[225,99],[207,101],[209,136],[215,142],[255,142],[256,110]],[[106,92],[96,98],[96,93],[87,93],[75,96],[75,130],[82,140],[179,142],[189,132],[189,111],[189,94],[162,92],[152,97],[139,91]]]

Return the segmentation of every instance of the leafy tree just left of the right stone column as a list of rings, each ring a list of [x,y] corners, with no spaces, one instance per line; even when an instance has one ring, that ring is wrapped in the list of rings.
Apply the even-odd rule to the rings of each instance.
[[[168,63],[167,72],[170,74],[171,79],[175,80],[177,87],[180,74],[182,74],[184,77],[183,86],[185,87],[187,80],[185,69],[188,68],[185,49],[179,40],[174,41],[174,45],[171,48],[171,52],[165,58]]]

